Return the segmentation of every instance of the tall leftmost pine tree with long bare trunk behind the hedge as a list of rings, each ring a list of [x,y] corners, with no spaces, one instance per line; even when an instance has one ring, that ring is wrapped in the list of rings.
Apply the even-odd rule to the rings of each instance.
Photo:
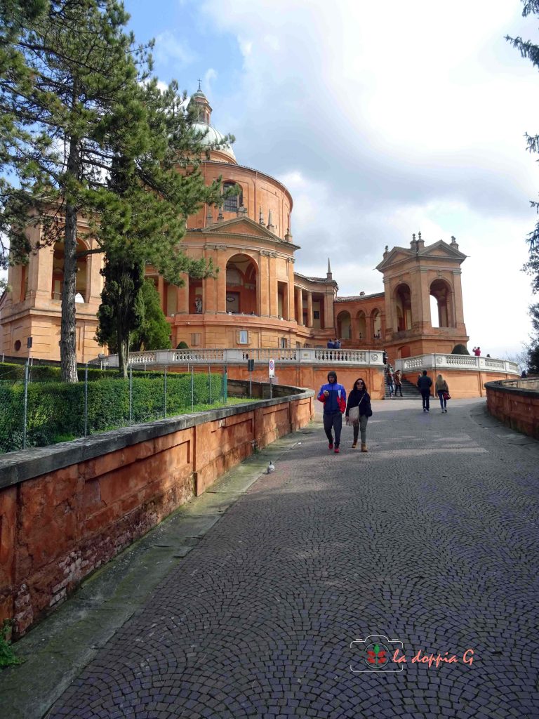
[[[0,162],[14,176],[0,185],[0,230],[10,262],[64,243],[60,357],[63,380],[76,382],[77,218],[91,216],[96,194],[103,203],[107,150],[126,134],[115,121],[119,98],[137,104],[137,79],[144,79],[137,67],[146,58],[123,32],[129,16],[116,0],[50,0],[45,9],[7,0],[3,9],[32,5],[6,32],[0,54],[0,63],[10,63],[0,64]],[[42,226],[34,247],[30,222]]]

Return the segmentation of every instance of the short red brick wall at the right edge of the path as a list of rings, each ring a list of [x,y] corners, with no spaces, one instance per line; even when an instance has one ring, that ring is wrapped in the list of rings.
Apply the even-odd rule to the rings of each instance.
[[[539,380],[489,382],[487,407],[508,427],[539,439]]]

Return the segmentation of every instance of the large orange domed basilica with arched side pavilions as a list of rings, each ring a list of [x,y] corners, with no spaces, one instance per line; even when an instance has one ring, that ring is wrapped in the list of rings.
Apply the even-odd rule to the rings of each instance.
[[[466,258],[454,238],[425,246],[413,235],[409,246],[386,247],[377,269],[383,290],[338,296],[328,260],[326,274],[308,277],[295,268],[300,249],[292,237],[290,192],[261,170],[239,165],[224,136],[211,124],[212,109],[198,91],[198,129],[207,130],[210,149],[201,163],[206,183],[218,177],[238,193],[219,208],[203,206],[188,219],[183,251],[213,260],[215,278],[185,277],[181,288],[147,267],[170,324],[172,347],[196,348],[341,347],[385,349],[390,359],[428,352],[451,352],[466,344],[461,294],[461,263]],[[84,221],[80,219],[80,230]],[[39,227],[29,229],[37,239]],[[82,233],[81,233],[82,234]],[[32,237],[33,235],[33,237]],[[93,242],[79,239],[80,250]],[[101,301],[102,256],[81,255],[77,267],[77,354],[88,362],[103,352],[96,339]],[[0,298],[0,339],[4,355],[60,358],[60,300],[63,244],[41,249],[29,264],[11,267],[9,292]],[[438,317],[431,318],[430,298]]]

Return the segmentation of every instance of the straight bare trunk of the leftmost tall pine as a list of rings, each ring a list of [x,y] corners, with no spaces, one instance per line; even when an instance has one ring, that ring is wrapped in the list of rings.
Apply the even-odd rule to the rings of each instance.
[[[77,279],[77,208],[68,203],[65,209],[64,283],[62,290],[62,324],[60,330],[60,367],[62,381],[75,383],[77,377],[77,342],[75,284]]]

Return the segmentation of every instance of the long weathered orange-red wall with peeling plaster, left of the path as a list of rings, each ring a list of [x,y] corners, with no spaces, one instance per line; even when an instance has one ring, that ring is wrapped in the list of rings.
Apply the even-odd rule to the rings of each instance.
[[[203,493],[254,446],[304,426],[312,416],[313,398],[303,393],[257,408],[217,410],[209,421],[190,416],[182,429],[170,420],[108,433],[124,446],[97,449],[96,456],[73,464],[67,459],[67,466],[18,482],[5,472],[2,477],[0,462],[0,620],[14,618],[15,633],[24,633],[84,577]],[[150,436],[152,431],[159,436]],[[88,453],[99,441],[110,449],[103,437],[66,443],[63,454],[77,456],[70,445]],[[62,454],[58,447],[56,456]],[[23,476],[32,453],[20,454],[17,472]],[[13,462],[14,454],[9,457]],[[46,457],[44,462],[41,467]]]

